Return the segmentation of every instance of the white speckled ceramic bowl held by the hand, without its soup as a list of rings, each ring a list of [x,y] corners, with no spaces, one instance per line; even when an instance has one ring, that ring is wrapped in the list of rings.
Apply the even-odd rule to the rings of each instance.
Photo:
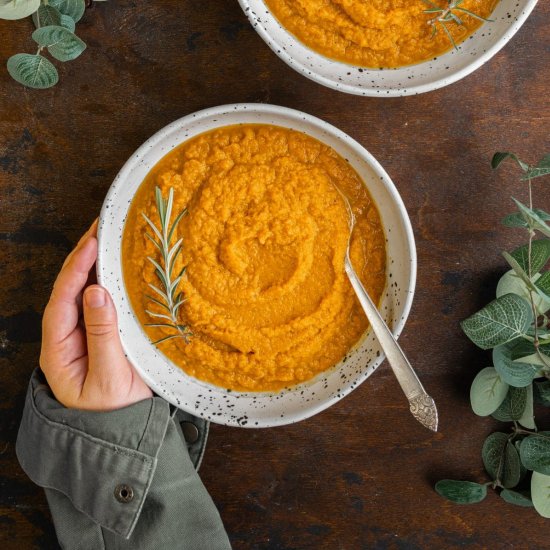
[[[381,311],[399,335],[416,281],[416,250],[407,212],[384,169],[359,143],[330,124],[284,107],[236,104],[213,107],[166,126],[146,141],[115,178],[99,221],[98,280],[112,294],[124,350],[143,379],[170,403],[221,424],[267,427],[312,416],[342,399],[380,365],[372,334],[335,368],[279,393],[227,391],[188,376],[151,344],[132,312],[123,283],[121,241],[130,202],[149,170],[175,146],[202,132],[232,124],[274,124],[304,132],[335,149],[362,177],[376,202],[387,243],[387,283]],[[343,268],[343,266],[342,266]]]

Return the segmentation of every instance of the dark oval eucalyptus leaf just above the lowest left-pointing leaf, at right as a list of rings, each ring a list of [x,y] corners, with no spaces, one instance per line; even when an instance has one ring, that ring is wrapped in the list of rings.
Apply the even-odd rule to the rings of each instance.
[[[519,454],[507,434],[492,433],[483,444],[481,458],[491,479],[500,481],[506,488],[515,487],[519,483]]]

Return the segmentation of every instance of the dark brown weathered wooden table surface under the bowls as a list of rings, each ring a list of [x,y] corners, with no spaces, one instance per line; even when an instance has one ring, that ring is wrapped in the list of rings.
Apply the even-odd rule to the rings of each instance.
[[[509,1],[509,0],[503,0]],[[459,321],[489,301],[506,270],[500,250],[522,235],[499,225],[525,199],[496,150],[529,161],[550,152],[550,3],[473,75],[397,99],[324,88],[287,67],[236,0],[97,3],[79,23],[88,50],[51,90],[27,90],[4,65],[33,51],[29,19],[0,21],[0,547],[56,548],[46,500],[14,442],[40,321],[72,245],[98,215],[125,160],[169,122],[233,102],[316,115],[386,168],[417,239],[418,286],[402,345],[440,411],[432,434],[408,412],[384,364],[350,396],[297,425],[212,426],[202,477],[235,549],[543,548],[550,524],[494,493],[447,503],[442,477],[484,481],[484,437],[496,427],[468,391],[489,355]],[[60,63],[57,63],[60,66]],[[549,207],[548,187],[535,202]],[[546,187],[546,192],[544,188]],[[207,550],[207,549],[205,549]]]

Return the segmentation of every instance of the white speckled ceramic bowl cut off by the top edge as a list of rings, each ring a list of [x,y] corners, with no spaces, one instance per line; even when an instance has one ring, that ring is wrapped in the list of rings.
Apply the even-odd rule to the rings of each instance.
[[[501,0],[491,19],[458,50],[399,69],[365,69],[334,61],[296,39],[263,0],[239,0],[252,26],[267,45],[294,70],[324,86],[348,94],[400,97],[429,92],[452,84],[491,59],[523,25],[537,0]]]

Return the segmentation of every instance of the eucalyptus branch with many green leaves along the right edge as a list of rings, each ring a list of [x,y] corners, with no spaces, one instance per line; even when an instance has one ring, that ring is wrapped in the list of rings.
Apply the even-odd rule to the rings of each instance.
[[[550,155],[531,166],[513,153],[496,153],[492,167],[511,159],[524,172],[528,205],[513,199],[518,210],[504,225],[527,230],[527,243],[503,256],[512,268],[497,288],[497,298],[461,323],[480,348],[492,349],[493,366],[481,370],[470,388],[478,416],[512,422],[511,433],[494,432],[482,447],[482,460],[493,489],[510,504],[534,506],[550,517],[550,433],[537,431],[534,405],[550,407],[550,213],[533,208],[532,179],[550,176]],[[535,240],[537,233],[544,238]],[[480,502],[485,483],[441,480],[436,491],[457,503]]]

